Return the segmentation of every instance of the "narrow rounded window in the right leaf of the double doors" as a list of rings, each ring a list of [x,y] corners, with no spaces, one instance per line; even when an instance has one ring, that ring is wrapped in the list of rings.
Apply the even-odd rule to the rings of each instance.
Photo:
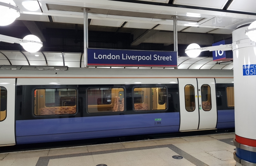
[[[201,100],[202,100],[202,109],[204,111],[210,111],[212,108],[212,101],[211,101],[211,88],[209,85],[202,85],[201,86]]]

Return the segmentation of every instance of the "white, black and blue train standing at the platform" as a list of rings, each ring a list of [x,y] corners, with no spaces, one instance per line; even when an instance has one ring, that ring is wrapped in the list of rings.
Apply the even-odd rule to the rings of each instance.
[[[233,70],[0,66],[0,146],[234,128]]]

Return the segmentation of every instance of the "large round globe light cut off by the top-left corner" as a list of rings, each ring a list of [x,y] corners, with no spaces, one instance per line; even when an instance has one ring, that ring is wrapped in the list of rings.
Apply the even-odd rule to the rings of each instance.
[[[0,26],[6,26],[20,16],[20,9],[13,0],[0,0]]]

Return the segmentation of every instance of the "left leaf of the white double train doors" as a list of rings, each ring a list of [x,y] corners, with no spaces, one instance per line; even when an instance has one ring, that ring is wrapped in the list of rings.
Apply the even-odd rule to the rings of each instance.
[[[179,78],[180,131],[197,130],[199,124],[196,78]]]

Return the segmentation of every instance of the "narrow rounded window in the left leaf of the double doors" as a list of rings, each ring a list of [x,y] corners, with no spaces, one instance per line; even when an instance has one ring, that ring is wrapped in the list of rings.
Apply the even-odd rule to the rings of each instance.
[[[188,112],[193,112],[196,109],[195,106],[195,88],[193,85],[186,85],[185,92],[185,108]]]

